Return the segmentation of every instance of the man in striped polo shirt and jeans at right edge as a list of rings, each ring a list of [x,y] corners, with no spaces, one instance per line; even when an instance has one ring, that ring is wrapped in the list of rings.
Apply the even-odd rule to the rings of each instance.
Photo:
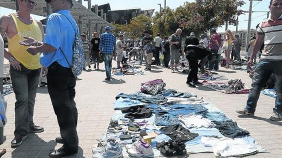
[[[261,60],[257,64],[252,79],[252,89],[250,90],[246,108],[236,111],[242,115],[253,116],[260,91],[266,81],[273,73],[275,78],[275,100],[274,114],[270,117],[272,121],[282,120],[282,0],[271,0],[269,6],[271,17],[259,24],[257,28],[257,40],[252,51],[247,67],[250,68],[259,51],[263,41],[265,47],[261,55]]]

